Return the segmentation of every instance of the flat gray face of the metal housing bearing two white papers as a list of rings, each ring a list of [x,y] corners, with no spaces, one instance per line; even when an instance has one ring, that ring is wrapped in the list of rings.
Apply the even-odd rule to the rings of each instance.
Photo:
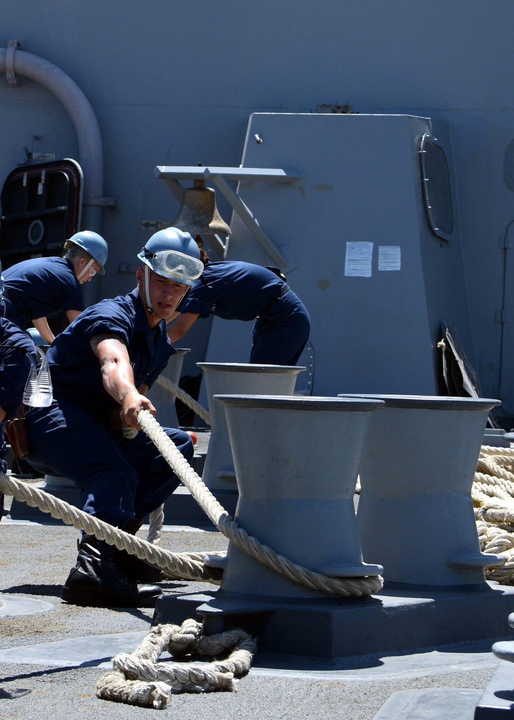
[[[243,165],[300,166],[308,176],[299,188],[241,183],[239,192],[292,266],[298,265],[288,282],[311,315],[316,395],[337,394],[341,387],[435,394],[438,326],[446,319],[441,306],[461,319],[469,338],[465,293],[451,287],[453,276],[464,287],[458,234],[447,252],[454,261],[437,273],[422,247],[439,249],[420,186],[419,140],[431,130],[430,120],[402,115],[251,117]],[[269,264],[237,216],[232,227],[228,259]],[[345,276],[346,241],[353,240],[374,243],[371,277]],[[399,271],[378,269],[379,246],[400,247]],[[233,323],[215,322],[207,359],[240,356],[247,343]]]

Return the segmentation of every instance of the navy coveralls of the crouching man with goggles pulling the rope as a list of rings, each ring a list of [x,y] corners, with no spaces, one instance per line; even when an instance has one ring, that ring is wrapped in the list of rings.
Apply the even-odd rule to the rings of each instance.
[[[164,321],[150,329],[137,289],[88,307],[48,350],[54,401],[27,413],[28,459],[40,472],[73,480],[82,510],[122,527],[158,508],[179,480],[145,433],[128,440],[109,427],[109,413],[120,405],[104,389],[90,346],[103,334],[127,346],[136,387],[151,387],[175,352]],[[190,460],[189,435],[163,429]]]

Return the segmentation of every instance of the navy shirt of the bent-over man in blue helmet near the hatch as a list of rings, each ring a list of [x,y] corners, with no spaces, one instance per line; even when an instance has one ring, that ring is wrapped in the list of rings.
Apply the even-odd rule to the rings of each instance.
[[[31,258],[4,270],[5,317],[22,330],[60,310],[84,310],[81,285],[66,258]]]

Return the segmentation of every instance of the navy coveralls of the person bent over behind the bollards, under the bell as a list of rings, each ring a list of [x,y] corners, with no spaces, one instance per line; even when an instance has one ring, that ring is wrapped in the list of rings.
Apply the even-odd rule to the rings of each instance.
[[[296,365],[309,339],[310,318],[302,301],[284,287],[278,275],[260,265],[209,261],[202,279],[178,309],[201,318],[209,314],[225,320],[257,318],[250,354],[253,364]]]

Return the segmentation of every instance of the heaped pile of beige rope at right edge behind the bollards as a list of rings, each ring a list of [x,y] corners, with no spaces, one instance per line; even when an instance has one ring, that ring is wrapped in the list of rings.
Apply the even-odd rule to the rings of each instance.
[[[501,567],[487,567],[487,580],[514,585],[514,449],[483,445],[472,499],[482,552],[500,553]]]

